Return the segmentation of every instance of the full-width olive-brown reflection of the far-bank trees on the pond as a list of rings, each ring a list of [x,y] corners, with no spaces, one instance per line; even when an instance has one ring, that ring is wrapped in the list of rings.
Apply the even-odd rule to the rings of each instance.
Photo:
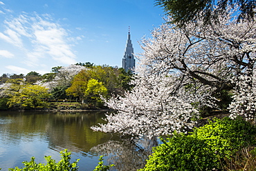
[[[89,152],[94,145],[104,143],[110,134],[93,132],[92,125],[102,123],[104,112],[3,112],[0,139],[3,143],[19,143],[46,139],[49,148],[73,152]],[[2,119],[3,120],[3,119]],[[8,122],[6,122],[8,120]],[[4,138],[3,138],[4,137]],[[14,141],[15,139],[15,141]]]

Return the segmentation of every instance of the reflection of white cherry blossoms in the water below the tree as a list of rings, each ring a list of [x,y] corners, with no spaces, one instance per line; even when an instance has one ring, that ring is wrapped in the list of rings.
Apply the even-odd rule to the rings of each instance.
[[[140,143],[142,144],[142,143]],[[138,148],[136,143],[131,141],[114,141],[97,145],[90,150],[93,153],[102,154],[107,165],[114,164],[111,170],[137,170],[145,166],[151,151]]]

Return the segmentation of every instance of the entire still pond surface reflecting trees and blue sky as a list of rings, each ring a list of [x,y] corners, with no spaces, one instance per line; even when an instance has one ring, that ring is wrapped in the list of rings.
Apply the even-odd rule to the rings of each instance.
[[[22,161],[44,156],[60,161],[60,151],[72,151],[71,161],[80,159],[79,170],[93,170],[100,155],[112,170],[143,168],[147,155],[136,145],[115,134],[93,132],[92,125],[104,123],[104,112],[5,112],[0,111],[0,168],[23,166]]]

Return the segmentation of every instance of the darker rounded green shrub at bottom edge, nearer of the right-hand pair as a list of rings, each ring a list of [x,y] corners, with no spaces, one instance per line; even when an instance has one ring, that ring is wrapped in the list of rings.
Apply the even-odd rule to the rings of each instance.
[[[163,140],[162,140],[163,141]],[[214,168],[214,154],[204,140],[174,134],[154,148],[142,170],[210,170]]]

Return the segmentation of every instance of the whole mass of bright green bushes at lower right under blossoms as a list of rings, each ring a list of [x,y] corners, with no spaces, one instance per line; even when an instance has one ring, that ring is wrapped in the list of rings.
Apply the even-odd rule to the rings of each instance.
[[[174,133],[153,149],[143,170],[222,170],[241,148],[255,145],[255,125],[239,118],[214,119],[188,135]]]

